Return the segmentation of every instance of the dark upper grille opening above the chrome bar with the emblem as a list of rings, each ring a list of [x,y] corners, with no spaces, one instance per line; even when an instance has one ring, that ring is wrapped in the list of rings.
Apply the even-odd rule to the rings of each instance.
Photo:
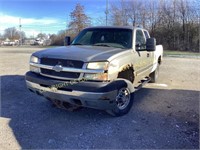
[[[62,65],[63,67],[82,68],[84,62],[68,59],[41,58],[41,64],[49,66]]]

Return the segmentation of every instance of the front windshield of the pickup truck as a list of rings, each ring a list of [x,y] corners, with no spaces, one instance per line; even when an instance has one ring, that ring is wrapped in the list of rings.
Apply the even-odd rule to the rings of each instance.
[[[132,48],[132,30],[112,28],[85,29],[74,39],[72,45]]]

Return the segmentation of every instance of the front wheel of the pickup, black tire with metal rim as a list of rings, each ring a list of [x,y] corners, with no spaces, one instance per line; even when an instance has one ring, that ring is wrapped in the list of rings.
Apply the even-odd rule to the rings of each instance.
[[[134,93],[131,93],[127,87],[122,87],[118,90],[118,94],[115,98],[116,106],[112,110],[108,110],[107,112],[112,116],[123,116],[127,114],[134,100]]]

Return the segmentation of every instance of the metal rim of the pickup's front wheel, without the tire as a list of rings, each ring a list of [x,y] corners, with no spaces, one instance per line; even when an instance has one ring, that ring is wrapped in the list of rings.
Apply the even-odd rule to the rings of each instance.
[[[130,91],[127,88],[121,88],[116,97],[117,107],[120,110],[125,109],[131,99]]]

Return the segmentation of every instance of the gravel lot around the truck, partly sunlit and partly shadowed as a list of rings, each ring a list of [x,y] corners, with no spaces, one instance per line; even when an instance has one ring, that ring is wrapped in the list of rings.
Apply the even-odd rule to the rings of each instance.
[[[26,89],[36,48],[0,48],[0,149],[198,149],[200,60],[165,57],[129,114],[67,112]]]

